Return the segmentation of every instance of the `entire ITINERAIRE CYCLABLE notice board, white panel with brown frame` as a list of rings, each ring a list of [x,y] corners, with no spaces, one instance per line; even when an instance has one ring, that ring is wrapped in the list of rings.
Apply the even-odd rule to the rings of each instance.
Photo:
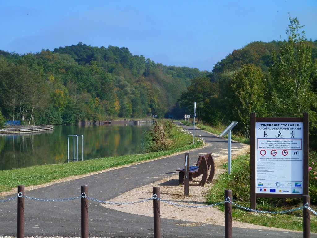
[[[308,114],[256,117],[251,113],[251,208],[256,197],[308,195]]]

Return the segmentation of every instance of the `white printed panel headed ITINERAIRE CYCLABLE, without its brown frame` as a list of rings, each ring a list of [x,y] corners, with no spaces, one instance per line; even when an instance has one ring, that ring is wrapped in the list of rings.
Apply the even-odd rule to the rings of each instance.
[[[303,122],[256,122],[256,193],[303,194]]]

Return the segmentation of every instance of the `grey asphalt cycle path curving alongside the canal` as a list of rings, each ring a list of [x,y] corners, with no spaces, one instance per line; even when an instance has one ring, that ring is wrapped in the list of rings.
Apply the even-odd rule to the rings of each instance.
[[[193,132],[192,126],[184,126]],[[200,155],[213,152],[217,159],[217,150],[227,148],[227,140],[200,129],[195,136],[203,138],[207,146],[190,152]],[[242,147],[232,142],[232,147]],[[41,199],[64,199],[81,195],[81,185],[88,186],[88,196],[108,201],[134,188],[139,188],[163,178],[175,175],[182,167],[184,154],[167,156],[158,160],[137,165],[121,167],[68,182],[60,182],[25,193],[28,197]],[[162,192],[162,191],[161,191]],[[8,199],[6,196],[1,198]],[[148,197],[144,197],[146,199]],[[17,200],[0,202],[0,235],[16,236]],[[131,202],[131,201],[121,201]],[[152,201],[148,201],[152,202]],[[44,202],[25,199],[25,236],[81,236],[81,200],[62,202]],[[153,237],[153,218],[143,215],[123,213],[101,206],[99,202],[89,201],[90,237]],[[208,209],[208,208],[206,208]],[[193,209],[195,212],[195,209]],[[212,214],[210,214],[212,216]],[[224,237],[224,226],[193,224],[192,222],[161,218],[162,237]],[[302,237],[299,232],[277,232],[272,230],[233,228],[233,237]],[[317,237],[312,234],[311,237]]]

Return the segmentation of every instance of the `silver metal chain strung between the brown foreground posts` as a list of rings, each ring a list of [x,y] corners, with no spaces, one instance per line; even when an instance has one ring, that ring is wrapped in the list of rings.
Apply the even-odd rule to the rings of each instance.
[[[85,193],[82,193],[81,196],[79,197],[71,197],[71,198],[64,198],[64,199],[42,199],[42,198],[34,198],[34,197],[28,197],[28,196],[24,196],[22,195],[22,193],[19,193],[17,196],[15,197],[11,197],[11,198],[8,198],[8,199],[4,199],[4,200],[0,200],[0,202],[8,202],[10,200],[14,200],[18,197],[23,197],[23,198],[27,198],[27,199],[31,199],[31,200],[37,200],[37,201],[44,201],[44,202],[62,202],[62,201],[69,201],[69,200],[75,200],[75,199],[79,199],[79,198],[87,198],[91,201],[94,201],[94,202],[100,202],[100,203],[106,203],[106,204],[113,204],[113,205],[127,205],[127,204],[135,204],[135,203],[140,203],[140,202],[147,202],[147,201],[150,201],[150,200],[154,200],[154,199],[157,199],[161,202],[164,202],[164,203],[167,203],[167,204],[170,204],[170,205],[174,205],[174,206],[178,206],[178,207],[183,207],[183,208],[205,208],[205,207],[213,207],[213,206],[218,206],[218,205],[221,205],[221,204],[224,204],[226,202],[229,202],[233,205],[235,205],[236,207],[238,208],[243,208],[247,211],[251,211],[251,212],[258,212],[258,213],[264,213],[264,214],[284,214],[284,213],[288,213],[288,212],[294,212],[294,211],[298,211],[298,210],[302,210],[303,208],[307,208],[309,211],[311,211],[314,215],[317,215],[317,212],[314,211],[312,208],[310,208],[308,206],[308,203],[304,204],[304,206],[301,206],[301,207],[298,207],[298,208],[293,208],[293,209],[290,209],[290,210],[284,210],[284,211],[274,211],[274,212],[268,212],[268,211],[260,211],[260,210],[255,210],[255,209],[251,209],[251,208],[246,208],[246,207],[243,207],[239,204],[236,204],[235,202],[232,202],[230,201],[229,197],[225,199],[225,201],[223,202],[217,202],[217,203],[214,203],[214,204],[206,204],[206,205],[200,205],[200,206],[189,206],[189,205],[182,205],[182,204],[177,204],[177,203],[173,203],[173,202],[169,202],[169,201],[166,201],[164,199],[160,199],[157,197],[156,194],[153,194],[151,198],[148,198],[148,199],[144,199],[144,200],[139,200],[139,201],[136,201],[136,202],[108,202],[108,201],[102,201],[102,200],[98,200],[98,199],[94,199],[94,198],[90,198],[90,197],[87,197]]]

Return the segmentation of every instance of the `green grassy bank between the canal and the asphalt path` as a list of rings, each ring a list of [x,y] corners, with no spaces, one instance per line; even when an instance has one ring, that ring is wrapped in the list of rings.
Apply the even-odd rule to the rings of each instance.
[[[173,127],[168,134],[173,143],[170,149],[166,151],[3,170],[0,173],[0,192],[9,191],[21,184],[25,186],[43,184],[68,176],[83,175],[133,162],[159,158],[164,155],[194,149],[203,145],[201,141],[192,144],[192,136],[177,127]]]

